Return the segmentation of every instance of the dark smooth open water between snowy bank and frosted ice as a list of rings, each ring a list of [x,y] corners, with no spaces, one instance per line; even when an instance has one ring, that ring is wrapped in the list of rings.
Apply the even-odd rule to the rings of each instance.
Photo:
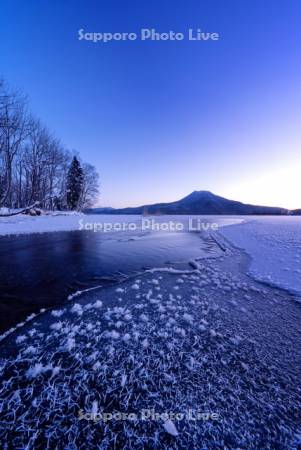
[[[124,275],[202,253],[199,233],[129,236],[91,231],[0,238],[0,331],[32,312],[62,304],[69,294]]]

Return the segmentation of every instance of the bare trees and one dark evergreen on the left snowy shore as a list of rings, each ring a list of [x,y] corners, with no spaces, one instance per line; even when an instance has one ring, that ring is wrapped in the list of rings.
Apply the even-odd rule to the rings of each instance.
[[[0,80],[0,208],[83,209],[98,189],[95,167],[65,149],[30,113],[26,96]]]

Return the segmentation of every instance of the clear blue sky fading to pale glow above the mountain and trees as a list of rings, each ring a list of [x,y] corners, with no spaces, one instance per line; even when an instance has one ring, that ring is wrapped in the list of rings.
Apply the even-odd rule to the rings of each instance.
[[[0,0],[0,77],[96,166],[99,206],[210,190],[300,208],[300,23],[299,0]],[[78,39],[142,28],[185,38]]]

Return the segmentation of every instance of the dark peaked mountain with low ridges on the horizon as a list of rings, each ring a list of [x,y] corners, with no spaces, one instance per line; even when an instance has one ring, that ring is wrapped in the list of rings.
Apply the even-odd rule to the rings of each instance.
[[[226,215],[247,215],[247,214],[288,214],[284,208],[274,208],[269,206],[248,205],[245,203],[228,200],[209,191],[194,191],[186,197],[172,203],[155,203],[153,205],[143,205],[132,208],[97,208],[86,211],[90,214],[226,214]]]

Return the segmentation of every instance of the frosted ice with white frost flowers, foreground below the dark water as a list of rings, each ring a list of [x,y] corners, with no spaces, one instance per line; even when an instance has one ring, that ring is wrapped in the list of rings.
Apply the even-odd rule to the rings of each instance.
[[[20,324],[1,345],[2,446],[300,448],[300,303],[246,275],[263,252],[276,255],[273,236],[286,261],[269,272],[274,284],[293,268],[300,226],[286,219],[225,227],[210,258],[82,293]],[[145,409],[184,418],[141,420]],[[189,410],[207,415],[195,421]],[[113,412],[136,416],[101,419]]]

